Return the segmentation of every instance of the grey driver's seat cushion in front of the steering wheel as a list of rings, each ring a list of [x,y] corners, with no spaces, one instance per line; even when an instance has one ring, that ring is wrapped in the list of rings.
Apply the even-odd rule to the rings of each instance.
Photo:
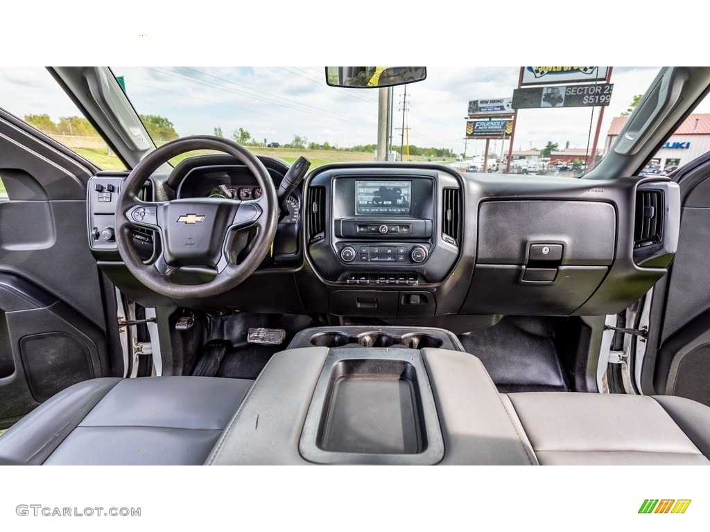
[[[0,436],[0,462],[202,465],[251,384],[217,377],[80,382]]]

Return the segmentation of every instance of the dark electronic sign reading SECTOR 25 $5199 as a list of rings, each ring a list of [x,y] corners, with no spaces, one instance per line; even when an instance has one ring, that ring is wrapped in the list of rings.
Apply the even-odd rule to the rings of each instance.
[[[515,89],[513,109],[607,106],[613,88],[613,83],[599,83]]]

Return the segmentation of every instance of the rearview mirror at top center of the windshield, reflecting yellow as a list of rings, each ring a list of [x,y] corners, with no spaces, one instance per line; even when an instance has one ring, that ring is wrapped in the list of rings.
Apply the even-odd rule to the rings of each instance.
[[[426,78],[427,67],[325,67],[325,81],[331,87],[374,89]]]

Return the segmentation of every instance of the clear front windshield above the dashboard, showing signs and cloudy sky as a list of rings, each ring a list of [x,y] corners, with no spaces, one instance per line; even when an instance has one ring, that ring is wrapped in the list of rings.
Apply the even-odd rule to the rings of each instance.
[[[442,162],[464,172],[579,177],[608,148],[613,119],[633,111],[659,69],[559,67],[601,72],[560,84],[555,68],[523,68],[530,82],[525,77],[516,96],[537,101],[523,101],[515,116],[520,67],[427,67],[427,79],[388,95],[386,158]],[[111,70],[158,145],[209,134],[289,162],[307,152],[314,166],[377,157],[378,90],[328,87],[323,67]],[[589,84],[597,89],[581,97],[567,89]]]

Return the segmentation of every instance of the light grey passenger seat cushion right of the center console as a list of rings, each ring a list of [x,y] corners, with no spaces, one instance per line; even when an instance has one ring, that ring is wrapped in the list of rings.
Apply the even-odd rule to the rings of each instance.
[[[654,397],[573,392],[508,394],[541,465],[710,465],[699,445],[710,408],[672,398],[675,419]],[[662,400],[662,398],[661,398]],[[685,426],[676,419],[688,412]],[[702,442],[705,441],[703,444]]]

